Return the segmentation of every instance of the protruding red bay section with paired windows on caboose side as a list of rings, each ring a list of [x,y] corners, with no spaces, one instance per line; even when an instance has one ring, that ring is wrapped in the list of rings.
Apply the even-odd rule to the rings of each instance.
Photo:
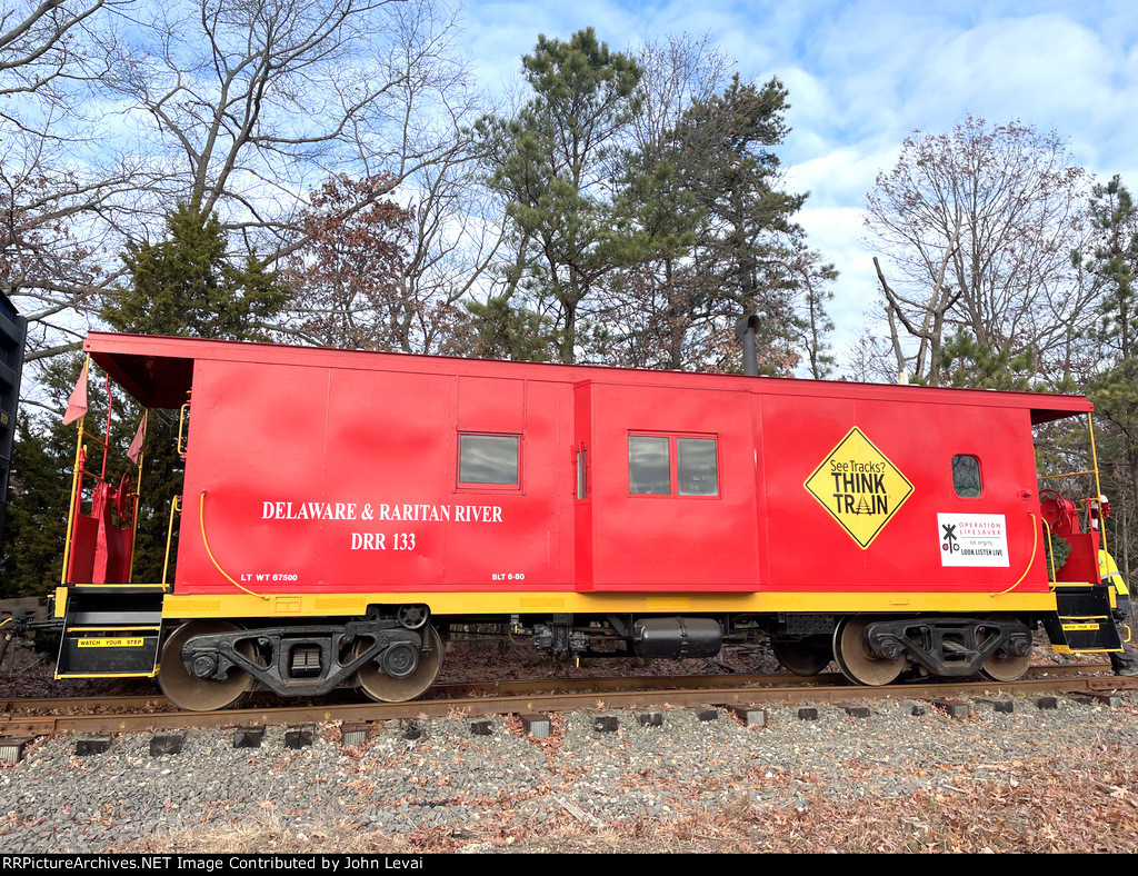
[[[578,578],[600,590],[753,590],[751,394],[595,380],[576,394],[591,454]]]

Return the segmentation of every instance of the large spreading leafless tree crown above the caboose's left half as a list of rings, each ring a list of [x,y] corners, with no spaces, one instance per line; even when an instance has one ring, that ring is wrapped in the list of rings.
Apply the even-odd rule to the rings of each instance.
[[[431,0],[179,0],[141,26],[106,88],[150,119],[163,203],[217,213],[265,262],[303,242],[319,181],[363,167],[394,188],[454,148],[450,119],[442,139],[422,121],[469,90]]]

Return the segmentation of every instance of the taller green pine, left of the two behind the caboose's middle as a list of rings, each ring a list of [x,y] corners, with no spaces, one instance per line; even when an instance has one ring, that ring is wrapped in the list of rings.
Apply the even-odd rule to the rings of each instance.
[[[574,362],[583,303],[628,257],[607,187],[642,73],[592,27],[568,42],[539,36],[522,65],[534,98],[516,118],[484,118],[478,131],[519,247],[508,295],[521,288],[554,312],[559,358]]]

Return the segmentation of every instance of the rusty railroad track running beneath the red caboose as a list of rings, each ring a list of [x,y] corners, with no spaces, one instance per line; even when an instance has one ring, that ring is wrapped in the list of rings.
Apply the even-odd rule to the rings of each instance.
[[[129,733],[200,727],[295,725],[320,721],[377,721],[431,717],[479,717],[579,709],[646,709],[663,705],[769,705],[800,702],[865,702],[879,699],[947,700],[1003,693],[1108,694],[1138,689],[1138,678],[1100,675],[1106,664],[1033,668],[1014,683],[937,681],[861,687],[839,675],[811,678],[767,675],[649,678],[542,679],[438,685],[410,703],[347,702],[344,695],[319,702],[284,703],[251,699],[246,708],[216,712],[173,711],[165,697],[81,697],[0,700],[0,735]],[[1098,675],[1096,675],[1098,672]]]

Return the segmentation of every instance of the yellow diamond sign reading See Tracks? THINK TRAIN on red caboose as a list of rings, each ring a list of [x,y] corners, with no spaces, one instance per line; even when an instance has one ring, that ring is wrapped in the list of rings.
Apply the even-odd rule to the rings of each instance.
[[[908,478],[856,427],[805,486],[863,549],[913,495]]]

